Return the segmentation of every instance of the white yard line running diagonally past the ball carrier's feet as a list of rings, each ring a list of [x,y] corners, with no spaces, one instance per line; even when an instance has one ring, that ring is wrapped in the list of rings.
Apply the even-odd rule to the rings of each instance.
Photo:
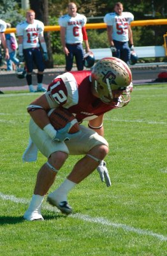
[[[17,198],[14,195],[4,195],[1,192],[0,192],[0,198],[2,200],[10,200],[11,202],[14,202],[14,203],[17,203],[17,204],[18,203],[20,203],[20,204],[28,204],[29,203],[29,200],[27,200],[25,198]],[[43,209],[47,209],[48,211],[54,211],[54,212],[59,211],[59,210],[51,207],[50,205],[48,205],[48,206],[43,205]],[[76,213],[76,214],[69,215],[68,218],[77,218],[79,220],[83,220],[83,221],[87,221],[87,222],[91,222],[91,223],[97,223],[97,224],[100,224],[100,225],[105,225],[106,227],[110,226],[110,227],[114,227],[114,228],[121,228],[126,232],[134,232],[134,233],[139,234],[139,235],[152,236],[152,237],[156,237],[157,239],[159,239],[161,241],[167,241],[167,236],[163,236],[161,234],[157,234],[157,233],[154,233],[152,231],[144,230],[144,229],[141,229],[141,228],[134,228],[134,227],[122,224],[122,223],[113,223],[112,221],[107,220],[105,218],[101,218],[101,217],[93,218],[93,217],[88,216],[88,215],[83,215],[83,214]]]

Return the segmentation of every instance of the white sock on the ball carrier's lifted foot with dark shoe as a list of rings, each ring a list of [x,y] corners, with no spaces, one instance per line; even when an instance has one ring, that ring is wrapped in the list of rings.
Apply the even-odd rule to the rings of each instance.
[[[67,201],[68,192],[76,186],[76,183],[71,180],[64,180],[59,188],[52,193],[56,197],[57,202]]]

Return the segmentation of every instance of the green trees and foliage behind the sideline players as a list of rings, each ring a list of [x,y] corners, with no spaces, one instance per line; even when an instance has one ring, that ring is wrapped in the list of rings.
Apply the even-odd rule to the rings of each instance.
[[[58,19],[67,12],[67,5],[71,1],[60,0],[30,0],[30,8],[36,13],[36,19],[43,21],[45,26],[58,25]],[[87,23],[103,22],[108,12],[113,12],[117,1],[76,0],[78,13],[87,17]],[[125,12],[131,12],[134,20],[166,19],[167,2],[164,0],[128,0],[121,1]],[[25,10],[21,9],[20,1],[0,0],[0,19],[10,22],[12,28],[25,19]],[[135,26],[133,29],[134,46],[163,45],[163,35],[167,33],[165,25],[162,26]],[[87,29],[89,44],[92,49],[108,47],[106,29]],[[59,31],[45,33],[49,59],[48,67],[56,63],[62,53]],[[59,57],[58,57],[59,56]],[[64,60],[64,56],[62,57]],[[158,60],[156,60],[158,61]],[[59,62],[59,61],[58,61]],[[59,64],[59,63],[58,63]]]

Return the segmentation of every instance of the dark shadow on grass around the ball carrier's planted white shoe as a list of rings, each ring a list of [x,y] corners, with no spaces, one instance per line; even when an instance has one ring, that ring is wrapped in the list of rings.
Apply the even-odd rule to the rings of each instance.
[[[57,220],[59,218],[67,218],[64,214],[43,214],[44,220]],[[7,225],[7,224],[17,224],[24,222],[23,216],[13,217],[13,216],[0,216],[0,225]]]

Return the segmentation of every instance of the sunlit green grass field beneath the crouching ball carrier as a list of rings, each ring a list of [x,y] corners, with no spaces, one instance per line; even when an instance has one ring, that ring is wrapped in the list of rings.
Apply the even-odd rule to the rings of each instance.
[[[46,161],[39,153],[35,163],[22,163],[29,138],[26,106],[38,95],[0,95],[0,255],[167,255],[167,84],[134,86],[126,108],[106,113],[112,187],[95,171],[69,194],[71,216],[44,202],[45,221],[29,222],[22,216]],[[69,156],[50,191],[79,158]]]

